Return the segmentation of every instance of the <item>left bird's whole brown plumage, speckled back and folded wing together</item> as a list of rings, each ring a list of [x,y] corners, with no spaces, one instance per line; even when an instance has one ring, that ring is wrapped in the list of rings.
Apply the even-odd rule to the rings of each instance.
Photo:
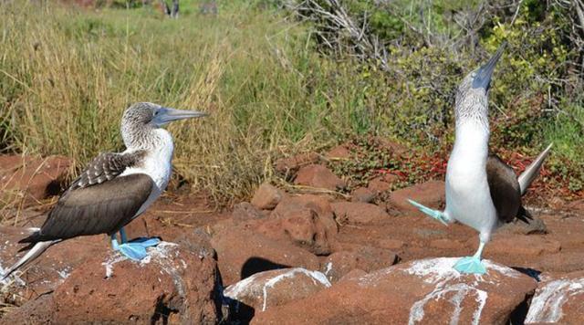
[[[139,166],[144,154],[99,154],[58,199],[40,230],[20,243],[115,234],[131,221],[152,192],[154,183],[149,175],[120,176],[126,169]]]

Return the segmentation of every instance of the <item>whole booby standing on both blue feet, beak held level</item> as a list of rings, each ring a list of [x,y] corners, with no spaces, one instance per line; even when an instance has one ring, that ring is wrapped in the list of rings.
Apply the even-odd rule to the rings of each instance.
[[[39,257],[60,241],[98,234],[111,236],[115,250],[134,260],[146,257],[146,247],[158,238],[128,241],[124,225],[141,215],[161,194],[172,172],[172,136],[162,129],[171,122],[207,115],[196,110],[174,110],[148,102],[124,111],[121,136],[124,152],[101,153],[71,183],[40,228],[19,241],[30,249],[2,279]],[[120,232],[121,244],[116,233]]]

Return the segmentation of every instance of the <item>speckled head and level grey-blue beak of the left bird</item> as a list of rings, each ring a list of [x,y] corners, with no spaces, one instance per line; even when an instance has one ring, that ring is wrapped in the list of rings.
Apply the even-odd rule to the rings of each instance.
[[[139,146],[148,142],[151,130],[158,129],[171,121],[193,119],[206,116],[197,110],[174,110],[151,102],[132,104],[121,118],[121,136],[127,146]]]

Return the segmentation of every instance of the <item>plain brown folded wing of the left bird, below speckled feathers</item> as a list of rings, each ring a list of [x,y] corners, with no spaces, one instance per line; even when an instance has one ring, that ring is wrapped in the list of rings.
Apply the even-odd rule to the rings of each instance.
[[[40,231],[21,242],[111,235],[136,215],[151,194],[153,184],[147,174],[135,173],[69,190],[48,214]]]

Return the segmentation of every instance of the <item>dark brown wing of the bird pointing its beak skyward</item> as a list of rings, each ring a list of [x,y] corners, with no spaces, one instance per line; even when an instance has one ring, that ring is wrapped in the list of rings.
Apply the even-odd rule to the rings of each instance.
[[[499,221],[513,221],[521,208],[521,189],[515,172],[496,155],[489,155],[486,179]]]

